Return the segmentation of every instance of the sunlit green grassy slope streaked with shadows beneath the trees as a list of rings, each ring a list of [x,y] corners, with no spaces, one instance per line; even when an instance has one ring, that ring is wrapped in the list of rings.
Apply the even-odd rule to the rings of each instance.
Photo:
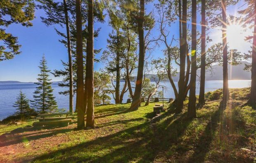
[[[248,92],[232,89],[225,110],[219,107],[220,90],[207,93],[211,101],[194,120],[185,111],[173,114],[173,108],[152,119],[154,103],[135,112],[128,112],[129,104],[96,107],[95,129],[75,131],[74,123],[9,135],[12,141],[0,144],[0,162],[253,162],[256,111],[241,106]],[[0,126],[0,132],[13,127]],[[17,137],[22,141],[13,141]]]

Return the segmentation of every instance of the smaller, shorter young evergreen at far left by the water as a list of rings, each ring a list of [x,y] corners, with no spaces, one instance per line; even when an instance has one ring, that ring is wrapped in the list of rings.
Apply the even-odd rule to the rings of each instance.
[[[29,114],[31,108],[29,106],[29,100],[26,98],[26,95],[19,91],[19,95],[17,96],[17,101],[13,104],[13,107],[17,108],[17,112],[15,114]]]

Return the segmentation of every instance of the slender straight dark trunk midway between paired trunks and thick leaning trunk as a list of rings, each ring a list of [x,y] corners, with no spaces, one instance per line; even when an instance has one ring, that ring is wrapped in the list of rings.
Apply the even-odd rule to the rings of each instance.
[[[115,91],[115,102],[120,103],[120,53],[119,53],[119,30],[117,30],[117,52],[116,52],[116,91]]]

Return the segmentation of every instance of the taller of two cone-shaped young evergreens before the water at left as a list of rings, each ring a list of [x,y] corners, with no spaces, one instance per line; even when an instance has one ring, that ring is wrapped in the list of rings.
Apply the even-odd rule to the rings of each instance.
[[[38,85],[36,87],[36,91],[34,92],[33,98],[33,107],[35,109],[38,109],[40,113],[45,112],[54,112],[57,110],[57,102],[55,101],[55,97],[52,94],[52,86],[51,86],[51,79],[49,79],[49,72],[50,70],[47,70],[47,62],[45,60],[45,56],[43,55],[43,58],[40,62],[40,74],[38,74],[38,82],[35,83]]]

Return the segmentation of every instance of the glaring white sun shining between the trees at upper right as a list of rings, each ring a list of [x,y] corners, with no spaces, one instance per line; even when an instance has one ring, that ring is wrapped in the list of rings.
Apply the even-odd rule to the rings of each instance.
[[[227,42],[231,49],[240,49],[244,45],[246,36],[244,28],[239,24],[231,24],[227,27]]]

